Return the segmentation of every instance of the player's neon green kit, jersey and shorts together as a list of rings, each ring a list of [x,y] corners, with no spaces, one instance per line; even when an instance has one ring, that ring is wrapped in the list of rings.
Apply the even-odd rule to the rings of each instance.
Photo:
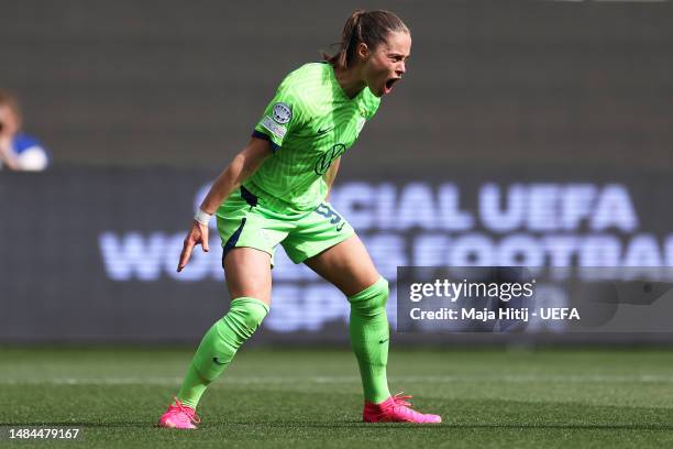
[[[256,124],[274,154],[218,209],[224,252],[250,247],[274,256],[280,243],[295,263],[353,234],[353,228],[324,201],[324,175],[349,150],[380,99],[368,87],[349,98],[327,63],[290,73]]]

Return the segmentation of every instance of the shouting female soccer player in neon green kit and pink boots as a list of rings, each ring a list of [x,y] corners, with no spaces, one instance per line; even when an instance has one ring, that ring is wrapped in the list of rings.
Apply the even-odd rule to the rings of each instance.
[[[268,314],[278,243],[293,262],[306,263],[351,303],[364,421],[441,421],[438,415],[411,409],[408,396],[390,396],[388,283],[353,228],[326,202],[341,155],[374,116],[380,97],[405,74],[410,48],[409,29],[394,13],[353,12],[339,52],[283,80],[247,145],[213,183],[185,238],[177,271],[196,244],[208,251],[208,222],[217,213],[233,299],[229,313],[203,336],[159,426],[192,429],[200,421],[195,409],[208,384]]]

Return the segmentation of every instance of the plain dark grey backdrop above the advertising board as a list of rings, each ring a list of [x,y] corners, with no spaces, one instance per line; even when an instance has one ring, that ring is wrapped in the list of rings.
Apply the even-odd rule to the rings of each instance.
[[[0,86],[57,164],[224,165],[356,7],[412,31],[352,171],[673,168],[673,4],[1,1]]]

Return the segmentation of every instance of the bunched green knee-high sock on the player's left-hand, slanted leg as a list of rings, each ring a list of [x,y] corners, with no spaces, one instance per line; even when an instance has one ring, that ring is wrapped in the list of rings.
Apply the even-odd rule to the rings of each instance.
[[[260,299],[240,297],[232,300],[229,313],[203,336],[177,394],[178,399],[196,408],[208,385],[222,374],[266,314],[268,306]]]

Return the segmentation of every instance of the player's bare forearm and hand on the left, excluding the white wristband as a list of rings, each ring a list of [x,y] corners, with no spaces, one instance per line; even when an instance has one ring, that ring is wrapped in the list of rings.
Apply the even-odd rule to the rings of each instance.
[[[203,202],[201,202],[201,210],[213,215],[224,198],[238,188],[241,183],[252,176],[264,160],[272,154],[272,146],[267,140],[251,138],[247,145],[234,156],[229,166],[212,183],[208,195],[206,195]],[[195,220],[183,242],[183,252],[180,253],[177,267],[178,273],[189,262],[191,251],[197,244],[201,244],[205,252],[209,251],[208,227]]]

